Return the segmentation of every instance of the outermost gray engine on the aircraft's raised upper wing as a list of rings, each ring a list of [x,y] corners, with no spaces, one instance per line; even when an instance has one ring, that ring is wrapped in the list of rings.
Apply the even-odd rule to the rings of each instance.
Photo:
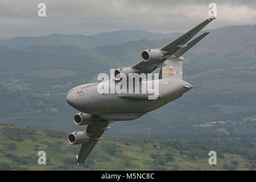
[[[157,62],[162,59],[164,54],[159,49],[147,49],[142,51],[141,59],[145,62]]]

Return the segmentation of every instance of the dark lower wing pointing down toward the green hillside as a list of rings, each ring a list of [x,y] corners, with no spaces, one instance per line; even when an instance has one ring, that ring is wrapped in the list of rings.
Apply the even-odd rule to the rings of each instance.
[[[102,139],[101,135],[104,133],[104,131],[110,129],[108,125],[108,121],[100,118],[96,119],[96,121],[94,121],[93,123],[87,125],[86,135],[88,135],[89,140],[82,143],[82,147],[77,158],[77,164],[83,163],[85,161],[98,140]]]

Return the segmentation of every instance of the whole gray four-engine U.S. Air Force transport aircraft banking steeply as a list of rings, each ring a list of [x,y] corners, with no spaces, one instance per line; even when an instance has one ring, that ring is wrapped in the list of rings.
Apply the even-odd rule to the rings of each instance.
[[[69,143],[82,144],[80,154],[76,156],[77,164],[85,161],[97,141],[102,139],[101,135],[104,131],[110,129],[108,126],[110,123],[137,119],[149,111],[176,100],[193,88],[191,84],[183,81],[184,58],[181,55],[209,34],[205,32],[189,42],[213,19],[215,18],[205,20],[163,48],[143,51],[142,61],[132,67],[115,69],[113,78],[108,80],[118,84],[122,80],[122,75],[152,73],[156,68],[160,68],[159,93],[155,100],[148,100],[151,93],[142,93],[141,90],[139,93],[99,93],[98,83],[84,84],[69,90],[66,101],[80,111],[74,115],[73,121],[76,125],[87,125],[86,131],[75,131],[68,135]],[[142,83],[143,80],[139,82]]]

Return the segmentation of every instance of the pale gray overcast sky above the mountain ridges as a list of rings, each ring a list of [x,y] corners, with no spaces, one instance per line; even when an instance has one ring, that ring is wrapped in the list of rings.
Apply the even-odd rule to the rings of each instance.
[[[38,16],[40,2],[46,3],[46,17]],[[217,20],[207,29],[256,24],[255,0],[1,0],[0,37],[123,29],[184,32],[208,18],[210,2],[217,4]]]

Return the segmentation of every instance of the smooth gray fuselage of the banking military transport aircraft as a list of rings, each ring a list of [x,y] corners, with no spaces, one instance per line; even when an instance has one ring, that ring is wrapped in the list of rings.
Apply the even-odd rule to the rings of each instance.
[[[100,94],[97,92],[97,84],[84,84],[77,86],[77,90],[68,94],[67,102],[77,110],[88,114],[147,113],[181,97],[189,90],[184,85],[193,87],[178,79],[160,79],[158,81],[159,98],[157,100],[129,100],[119,98],[120,94],[118,93]]]

